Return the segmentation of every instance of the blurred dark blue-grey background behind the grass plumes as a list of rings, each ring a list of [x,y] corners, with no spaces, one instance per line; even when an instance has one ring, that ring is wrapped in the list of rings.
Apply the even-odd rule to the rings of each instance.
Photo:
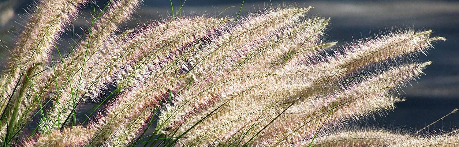
[[[183,15],[237,17],[242,1],[172,0],[171,6],[169,0],[146,0],[133,15],[134,18],[123,25],[124,28],[136,28],[153,19],[167,18],[172,15],[172,8],[177,12],[181,3],[184,4]],[[24,24],[20,16],[34,0],[0,0],[0,3],[0,40],[11,47],[17,30]],[[107,0],[96,0],[95,6],[85,6],[83,14],[75,18],[59,45],[68,46],[67,40],[72,32],[78,34],[90,21],[90,12],[94,7],[99,11],[99,7],[106,4]],[[428,51],[427,56],[418,56],[419,61],[433,63],[425,69],[425,75],[399,91],[406,101],[397,103],[397,108],[384,117],[365,119],[362,125],[416,131],[459,108],[459,0],[246,0],[241,16],[264,7],[282,5],[313,6],[308,16],[330,17],[330,30],[326,32],[325,39],[339,41],[337,46],[397,28],[431,29],[434,31],[432,36],[447,39],[433,43],[435,49]],[[3,69],[9,55],[4,45],[1,46],[0,69]],[[458,128],[459,113],[454,113],[428,130]]]

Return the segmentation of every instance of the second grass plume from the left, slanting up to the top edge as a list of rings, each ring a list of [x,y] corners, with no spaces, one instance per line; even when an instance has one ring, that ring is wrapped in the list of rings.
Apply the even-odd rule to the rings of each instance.
[[[86,36],[86,41],[81,42],[74,51],[73,56],[63,59],[64,61],[56,66],[56,71],[53,71],[56,74],[63,75],[52,78],[56,79],[56,83],[58,83],[56,89],[59,89],[56,92],[60,94],[54,97],[56,105],[51,107],[48,114],[41,119],[39,123],[40,132],[46,133],[50,130],[55,130],[66,123],[72,110],[77,107],[75,103],[78,103],[78,100],[87,93],[86,90],[79,89],[81,81],[87,80],[84,79],[83,73],[90,73],[82,71],[85,68],[92,68],[85,65],[94,66],[94,64],[97,64],[94,62],[98,60],[92,58],[93,55],[96,52],[104,51],[100,48],[104,40],[116,30],[116,26],[119,23],[129,18],[139,3],[140,0],[113,1],[106,12],[100,16],[93,16],[98,18],[95,18],[95,22],[91,24],[92,28],[89,35]]]

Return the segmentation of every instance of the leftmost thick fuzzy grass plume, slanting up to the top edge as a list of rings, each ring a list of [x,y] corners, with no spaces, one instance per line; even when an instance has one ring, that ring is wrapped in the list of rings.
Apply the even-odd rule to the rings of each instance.
[[[31,14],[16,47],[11,51],[12,57],[1,79],[0,137],[3,139],[0,143],[11,144],[20,125],[26,122],[30,111],[36,107],[37,97],[28,96],[34,93],[33,87],[40,83],[33,82],[31,78],[44,69],[42,65],[50,56],[56,36],[85,1],[42,0]]]

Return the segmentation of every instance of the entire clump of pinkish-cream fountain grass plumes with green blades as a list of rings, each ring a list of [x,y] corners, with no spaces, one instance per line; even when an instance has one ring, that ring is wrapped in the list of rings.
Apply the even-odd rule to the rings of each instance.
[[[392,91],[431,62],[386,61],[445,40],[431,30],[398,30],[336,51],[323,37],[330,18],[284,6],[237,23],[173,15],[123,32],[118,26],[141,1],[110,1],[57,63],[48,63],[51,46],[86,1],[38,3],[0,76],[2,146],[459,146],[457,130],[410,136],[347,126],[404,100]],[[105,96],[108,87],[115,90]],[[80,113],[88,98],[100,103]]]

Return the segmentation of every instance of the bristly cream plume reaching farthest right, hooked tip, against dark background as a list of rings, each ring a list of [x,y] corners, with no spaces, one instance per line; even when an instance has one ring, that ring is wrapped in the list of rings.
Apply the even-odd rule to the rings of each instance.
[[[380,38],[358,41],[346,47],[344,54],[330,59],[330,62],[339,67],[346,67],[349,72],[352,72],[372,62],[413,52],[424,52],[432,46],[431,41],[444,40],[442,37],[431,38],[431,32],[431,30],[397,31]]]

